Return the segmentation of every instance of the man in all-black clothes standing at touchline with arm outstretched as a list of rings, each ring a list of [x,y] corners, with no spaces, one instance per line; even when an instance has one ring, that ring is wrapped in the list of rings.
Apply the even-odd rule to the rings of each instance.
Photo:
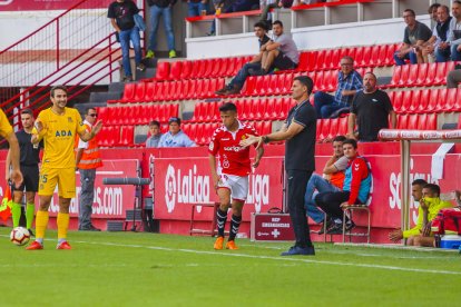
[[[314,82],[310,77],[294,78],[292,97],[296,100],[296,106],[290,110],[282,129],[267,136],[251,136],[241,142],[242,146],[257,142],[259,147],[263,142],[286,140],[285,170],[288,178],[288,209],[296,242],[287,251],[282,252],[282,256],[315,255],[304,208],[307,181],[315,170],[317,117],[314,107],[308,101],[313,87]]]

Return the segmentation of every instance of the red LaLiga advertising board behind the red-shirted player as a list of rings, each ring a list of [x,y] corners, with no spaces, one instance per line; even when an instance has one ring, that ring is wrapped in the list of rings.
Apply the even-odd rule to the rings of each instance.
[[[249,191],[243,219],[249,221],[252,212],[282,208],[283,160],[265,157],[249,176]],[[189,204],[217,201],[208,158],[176,158],[154,160],[154,217],[156,219],[189,220]],[[212,212],[197,207],[196,219],[212,220]]]

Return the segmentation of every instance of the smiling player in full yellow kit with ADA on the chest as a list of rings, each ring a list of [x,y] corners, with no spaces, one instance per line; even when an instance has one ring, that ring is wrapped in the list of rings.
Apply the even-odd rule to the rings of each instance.
[[[32,143],[41,139],[45,142],[39,179],[40,207],[36,215],[36,240],[27,247],[29,250],[43,249],[43,237],[48,225],[48,208],[58,185],[59,212],[57,249],[71,249],[67,241],[69,228],[70,199],[76,196],[76,159],[73,142],[76,135],[84,141],[92,139],[102,127],[98,121],[90,132],[85,129],[81,117],[76,109],[67,108],[67,89],[57,86],[51,89],[52,107],[42,110],[37,120],[37,135]]]

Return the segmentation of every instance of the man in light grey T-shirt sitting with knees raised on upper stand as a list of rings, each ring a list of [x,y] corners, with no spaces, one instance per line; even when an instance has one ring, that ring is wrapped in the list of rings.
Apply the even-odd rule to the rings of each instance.
[[[261,69],[252,69],[249,75],[263,76],[274,69],[286,70],[295,69],[300,61],[300,53],[294,40],[283,32],[283,23],[275,20],[272,23],[274,39],[261,48],[263,58],[261,60]]]

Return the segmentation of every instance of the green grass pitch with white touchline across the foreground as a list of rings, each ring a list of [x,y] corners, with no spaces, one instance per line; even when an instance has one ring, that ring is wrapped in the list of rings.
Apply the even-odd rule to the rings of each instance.
[[[0,306],[457,306],[461,255],[134,232],[70,232],[72,250],[13,246],[0,228]]]

